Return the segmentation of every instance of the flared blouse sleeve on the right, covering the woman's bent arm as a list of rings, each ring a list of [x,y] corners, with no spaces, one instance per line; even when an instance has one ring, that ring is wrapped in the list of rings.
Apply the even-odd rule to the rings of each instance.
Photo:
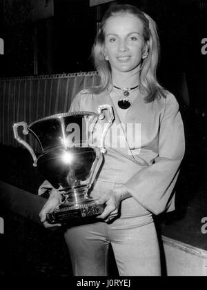
[[[175,96],[166,96],[166,106],[159,127],[158,156],[152,165],[144,167],[124,185],[138,203],[153,214],[169,209],[175,194],[173,189],[184,157],[184,125]]]

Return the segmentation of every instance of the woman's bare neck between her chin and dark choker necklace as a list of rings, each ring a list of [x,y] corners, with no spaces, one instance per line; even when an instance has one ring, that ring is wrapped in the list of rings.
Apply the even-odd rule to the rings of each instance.
[[[139,85],[139,71],[112,71],[112,84],[117,87],[135,87],[136,85]]]

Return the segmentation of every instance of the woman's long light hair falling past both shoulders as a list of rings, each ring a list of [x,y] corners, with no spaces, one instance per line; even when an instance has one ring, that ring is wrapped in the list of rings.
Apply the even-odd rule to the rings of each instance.
[[[106,21],[117,14],[132,14],[141,21],[143,25],[144,40],[148,41],[148,56],[142,60],[139,71],[141,90],[146,92],[146,102],[150,103],[160,96],[166,96],[166,91],[157,81],[156,71],[159,61],[159,37],[157,34],[157,25],[148,14],[139,10],[136,6],[128,4],[114,4],[103,15],[100,24],[99,32],[95,38],[95,43],[92,47],[92,58],[95,68],[99,73],[99,85],[90,87],[88,92],[92,94],[100,94],[108,90],[112,84],[111,68],[109,61],[106,61],[103,53],[105,43],[104,28]]]

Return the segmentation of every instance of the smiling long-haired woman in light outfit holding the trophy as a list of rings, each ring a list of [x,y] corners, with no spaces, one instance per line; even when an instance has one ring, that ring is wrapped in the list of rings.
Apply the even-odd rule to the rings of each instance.
[[[119,142],[112,146],[108,132],[109,146],[91,192],[97,203],[106,204],[98,217],[102,221],[66,231],[73,273],[107,276],[111,243],[120,276],[160,276],[152,214],[175,208],[173,188],[184,156],[184,128],[175,96],[156,79],[155,22],[135,6],[111,6],[101,22],[93,56],[101,81],[79,92],[70,111],[97,112],[98,105],[112,105],[115,121],[110,131],[119,125]],[[59,200],[58,191],[52,189],[40,213],[45,227],[52,227],[46,213]]]

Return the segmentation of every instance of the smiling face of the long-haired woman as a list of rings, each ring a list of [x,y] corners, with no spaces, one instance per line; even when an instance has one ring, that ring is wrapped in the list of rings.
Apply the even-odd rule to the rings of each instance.
[[[103,52],[108,56],[112,72],[132,72],[139,69],[146,44],[143,25],[133,14],[110,17],[105,25]]]

